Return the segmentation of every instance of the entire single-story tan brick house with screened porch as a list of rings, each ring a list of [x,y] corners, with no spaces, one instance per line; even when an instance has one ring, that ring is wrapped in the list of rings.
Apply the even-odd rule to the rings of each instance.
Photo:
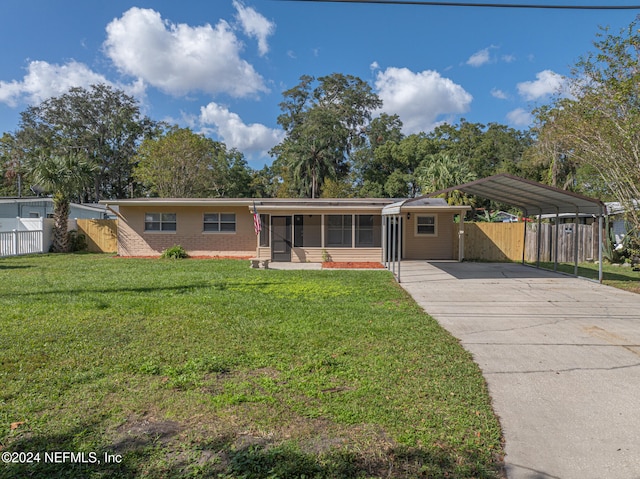
[[[441,198],[141,198],[103,200],[118,217],[118,254],[158,256],[181,245],[192,256],[274,262],[462,260],[468,206]],[[260,217],[256,233],[254,213]],[[392,246],[390,246],[392,245]]]

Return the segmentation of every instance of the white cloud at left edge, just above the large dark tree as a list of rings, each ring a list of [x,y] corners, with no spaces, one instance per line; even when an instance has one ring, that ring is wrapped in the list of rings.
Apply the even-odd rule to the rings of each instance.
[[[0,81],[0,103],[6,103],[11,107],[23,101],[37,104],[47,98],[67,93],[72,87],[88,88],[98,83],[112,84],[103,75],[92,71],[83,63],[70,61],[64,65],[56,65],[44,61],[32,61],[21,81]],[[119,88],[131,95],[144,95],[144,85],[141,83]]]

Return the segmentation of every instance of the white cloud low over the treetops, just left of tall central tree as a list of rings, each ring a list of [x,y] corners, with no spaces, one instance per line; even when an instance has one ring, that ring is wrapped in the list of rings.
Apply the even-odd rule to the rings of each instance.
[[[259,123],[247,125],[237,113],[215,102],[200,108],[200,123],[203,126],[213,125],[215,132],[227,146],[242,152],[266,153],[284,137],[282,130]]]

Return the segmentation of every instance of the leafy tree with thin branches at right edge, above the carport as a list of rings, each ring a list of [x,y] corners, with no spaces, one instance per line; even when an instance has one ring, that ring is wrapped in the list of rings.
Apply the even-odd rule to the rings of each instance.
[[[596,171],[640,230],[640,17],[603,29],[567,78],[570,97],[540,110],[538,145]],[[553,158],[555,161],[556,158]]]

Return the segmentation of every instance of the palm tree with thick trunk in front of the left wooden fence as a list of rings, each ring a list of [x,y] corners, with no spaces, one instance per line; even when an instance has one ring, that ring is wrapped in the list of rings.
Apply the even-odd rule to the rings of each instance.
[[[97,166],[80,155],[40,157],[31,165],[33,180],[53,194],[53,252],[69,250],[67,224],[71,198],[80,195]]]

